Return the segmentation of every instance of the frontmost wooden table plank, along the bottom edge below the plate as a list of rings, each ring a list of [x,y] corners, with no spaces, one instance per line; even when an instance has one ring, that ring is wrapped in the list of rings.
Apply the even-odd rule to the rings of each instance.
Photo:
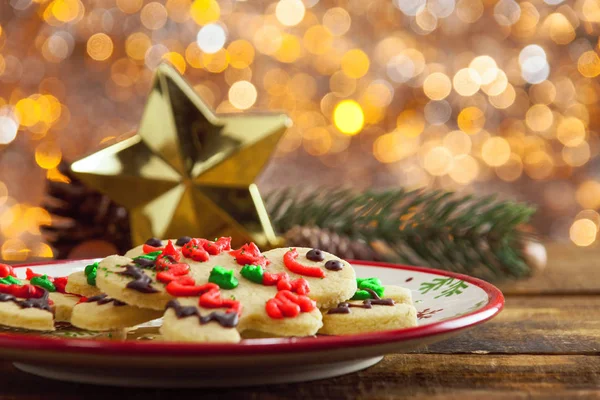
[[[20,399],[379,399],[570,398],[600,388],[600,358],[593,356],[439,355],[387,356],[362,372],[312,383],[240,389],[123,389],[35,378],[1,364],[2,394]],[[531,397],[527,397],[531,396]],[[582,397],[579,397],[582,398]],[[592,397],[590,397],[592,398]]]

